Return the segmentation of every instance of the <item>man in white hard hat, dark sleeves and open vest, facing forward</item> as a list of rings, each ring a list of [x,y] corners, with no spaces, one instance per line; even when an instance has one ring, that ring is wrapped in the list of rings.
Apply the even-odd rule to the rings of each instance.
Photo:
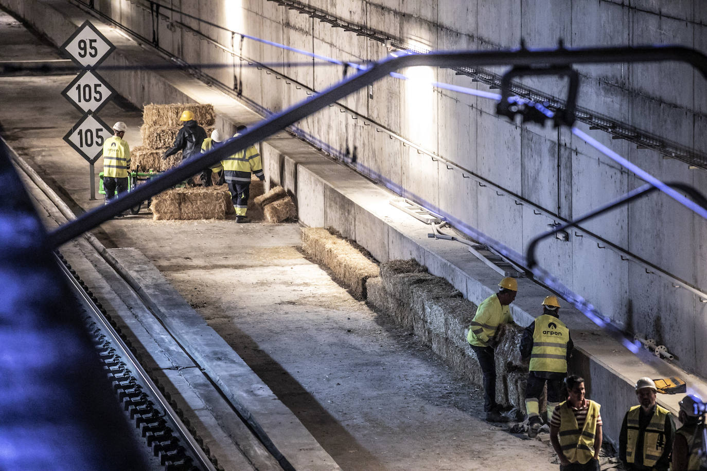
[[[675,437],[672,414],[655,402],[658,388],[650,378],[636,381],[639,405],[626,412],[619,434],[619,458],[627,470],[667,471]]]

